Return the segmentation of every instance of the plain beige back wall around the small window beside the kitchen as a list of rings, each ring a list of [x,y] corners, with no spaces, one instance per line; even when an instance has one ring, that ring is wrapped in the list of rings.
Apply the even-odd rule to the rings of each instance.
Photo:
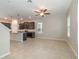
[[[64,38],[67,37],[65,15],[50,15],[44,18],[35,19],[35,22],[36,25],[38,22],[43,23],[43,33],[38,34],[38,32],[36,31],[37,38],[44,38],[44,39],[55,38],[57,40],[64,40]]]

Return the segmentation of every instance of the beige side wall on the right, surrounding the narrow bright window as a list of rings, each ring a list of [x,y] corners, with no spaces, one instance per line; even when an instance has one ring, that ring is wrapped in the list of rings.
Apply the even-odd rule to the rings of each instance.
[[[69,15],[71,17],[71,24],[70,24],[70,38],[68,40],[70,46],[72,47],[74,53],[77,56],[77,52],[78,52],[78,40],[77,40],[77,0],[73,0],[71,6],[70,6],[70,10],[69,10]]]

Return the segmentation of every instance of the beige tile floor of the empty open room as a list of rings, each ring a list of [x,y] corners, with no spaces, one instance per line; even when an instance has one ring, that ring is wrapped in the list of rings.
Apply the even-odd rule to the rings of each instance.
[[[11,41],[11,54],[3,59],[77,59],[64,41],[27,39]]]

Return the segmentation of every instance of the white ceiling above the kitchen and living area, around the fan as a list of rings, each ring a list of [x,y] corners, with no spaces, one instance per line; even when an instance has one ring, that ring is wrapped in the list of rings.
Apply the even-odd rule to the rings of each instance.
[[[71,0],[32,0],[32,3],[27,0],[0,0],[0,18],[17,18],[17,14],[19,18],[35,17],[33,9],[41,6],[48,8],[51,14],[63,14],[67,12],[70,3]]]

